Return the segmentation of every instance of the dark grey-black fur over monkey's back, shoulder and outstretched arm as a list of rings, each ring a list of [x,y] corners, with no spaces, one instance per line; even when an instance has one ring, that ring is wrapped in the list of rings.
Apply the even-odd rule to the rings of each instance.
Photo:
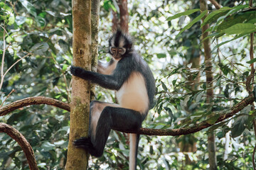
[[[155,82],[153,74],[146,62],[136,52],[126,52],[124,57],[117,63],[113,74],[105,75],[90,72],[80,67],[72,66],[71,74],[82,79],[98,84],[105,89],[119,90],[132,72],[140,72],[146,81],[146,90],[149,96],[149,108],[154,106]]]

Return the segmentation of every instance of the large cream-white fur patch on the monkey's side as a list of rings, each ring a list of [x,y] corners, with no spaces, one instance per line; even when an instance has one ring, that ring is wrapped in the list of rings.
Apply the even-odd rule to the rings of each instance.
[[[146,112],[149,108],[149,96],[142,74],[132,72],[121,89],[117,91],[117,100],[122,108],[129,108],[140,113]]]

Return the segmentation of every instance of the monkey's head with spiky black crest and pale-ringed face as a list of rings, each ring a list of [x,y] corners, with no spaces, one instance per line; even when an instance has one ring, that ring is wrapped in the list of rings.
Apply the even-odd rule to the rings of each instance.
[[[132,50],[132,39],[129,35],[117,30],[109,40],[110,54],[115,60],[120,60]]]

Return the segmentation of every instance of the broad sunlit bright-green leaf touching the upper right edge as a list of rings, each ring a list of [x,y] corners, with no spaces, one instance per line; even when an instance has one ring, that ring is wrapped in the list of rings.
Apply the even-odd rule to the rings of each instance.
[[[226,34],[248,34],[256,31],[256,26],[253,23],[237,23],[224,30]]]

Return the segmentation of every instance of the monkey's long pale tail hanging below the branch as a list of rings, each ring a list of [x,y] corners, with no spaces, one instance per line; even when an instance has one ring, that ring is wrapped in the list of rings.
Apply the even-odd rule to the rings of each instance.
[[[129,170],[136,170],[138,146],[139,146],[139,135],[130,133],[129,135]]]

